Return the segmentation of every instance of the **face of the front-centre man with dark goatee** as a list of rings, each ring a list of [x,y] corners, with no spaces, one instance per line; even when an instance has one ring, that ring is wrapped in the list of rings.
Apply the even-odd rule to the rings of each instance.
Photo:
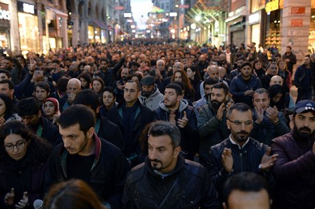
[[[149,160],[154,170],[160,173],[168,173],[175,168],[180,147],[173,148],[170,136],[150,135],[148,149]]]

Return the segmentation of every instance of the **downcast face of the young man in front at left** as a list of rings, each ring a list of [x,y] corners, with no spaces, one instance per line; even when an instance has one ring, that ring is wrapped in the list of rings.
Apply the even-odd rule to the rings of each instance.
[[[62,128],[59,125],[59,132],[64,141],[64,148],[71,154],[86,156],[91,146],[94,127],[91,127],[86,134],[80,130],[79,123],[70,127]],[[91,133],[92,132],[92,133]]]

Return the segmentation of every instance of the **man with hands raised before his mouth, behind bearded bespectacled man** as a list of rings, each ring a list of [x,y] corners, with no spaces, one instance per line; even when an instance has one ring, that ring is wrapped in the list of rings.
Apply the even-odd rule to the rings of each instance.
[[[253,132],[251,137],[256,140],[270,145],[271,140],[283,134],[290,132],[286,125],[286,119],[282,112],[277,110],[277,107],[270,107],[270,97],[268,90],[258,88],[253,93]]]

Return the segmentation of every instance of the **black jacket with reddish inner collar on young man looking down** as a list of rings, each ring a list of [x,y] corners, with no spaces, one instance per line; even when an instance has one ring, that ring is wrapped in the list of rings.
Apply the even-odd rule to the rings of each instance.
[[[121,150],[106,140],[93,137],[95,140],[95,161],[90,171],[90,181],[87,182],[97,193],[103,203],[108,202],[112,209],[121,209],[123,186],[129,172],[129,163]],[[53,150],[49,159],[49,172],[46,174],[46,187],[56,182],[68,180],[68,151],[63,144]]]

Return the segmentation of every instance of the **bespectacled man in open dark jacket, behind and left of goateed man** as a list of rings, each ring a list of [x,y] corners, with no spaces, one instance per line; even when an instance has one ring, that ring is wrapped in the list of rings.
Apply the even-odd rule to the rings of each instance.
[[[136,165],[137,156],[140,154],[138,138],[142,129],[155,120],[153,111],[138,100],[140,95],[140,84],[132,80],[127,81],[123,93],[124,100],[107,114],[108,119],[118,125],[123,133],[125,142],[123,153],[133,166]]]

